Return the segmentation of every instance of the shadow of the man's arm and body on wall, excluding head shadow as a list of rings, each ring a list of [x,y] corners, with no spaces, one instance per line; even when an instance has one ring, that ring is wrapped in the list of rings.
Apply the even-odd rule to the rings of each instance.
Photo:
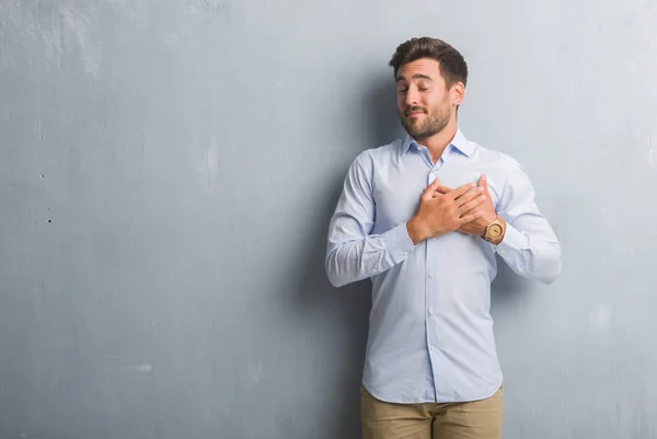
[[[339,355],[323,365],[322,370],[312,373],[322,381],[321,389],[330,389],[320,398],[322,407],[316,412],[323,415],[323,419],[318,420],[318,428],[322,431],[318,432],[318,439],[360,437],[359,385],[367,343],[371,284],[364,280],[336,289],[328,282],[324,270],[326,232],[342,190],[342,177],[336,176],[327,186],[327,195],[322,198],[326,200],[324,205],[315,206],[319,219],[314,221],[316,227],[309,236],[310,250],[300,262],[302,276],[296,291],[303,320],[318,324],[328,320],[328,324],[339,325],[331,328],[331,333],[339,334],[331,338],[331,343],[337,346],[328,348]]]

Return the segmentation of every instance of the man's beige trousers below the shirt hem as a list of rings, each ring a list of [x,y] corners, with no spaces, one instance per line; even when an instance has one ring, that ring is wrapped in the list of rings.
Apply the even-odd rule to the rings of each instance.
[[[500,439],[503,388],[482,401],[391,404],[360,386],[364,439]]]

